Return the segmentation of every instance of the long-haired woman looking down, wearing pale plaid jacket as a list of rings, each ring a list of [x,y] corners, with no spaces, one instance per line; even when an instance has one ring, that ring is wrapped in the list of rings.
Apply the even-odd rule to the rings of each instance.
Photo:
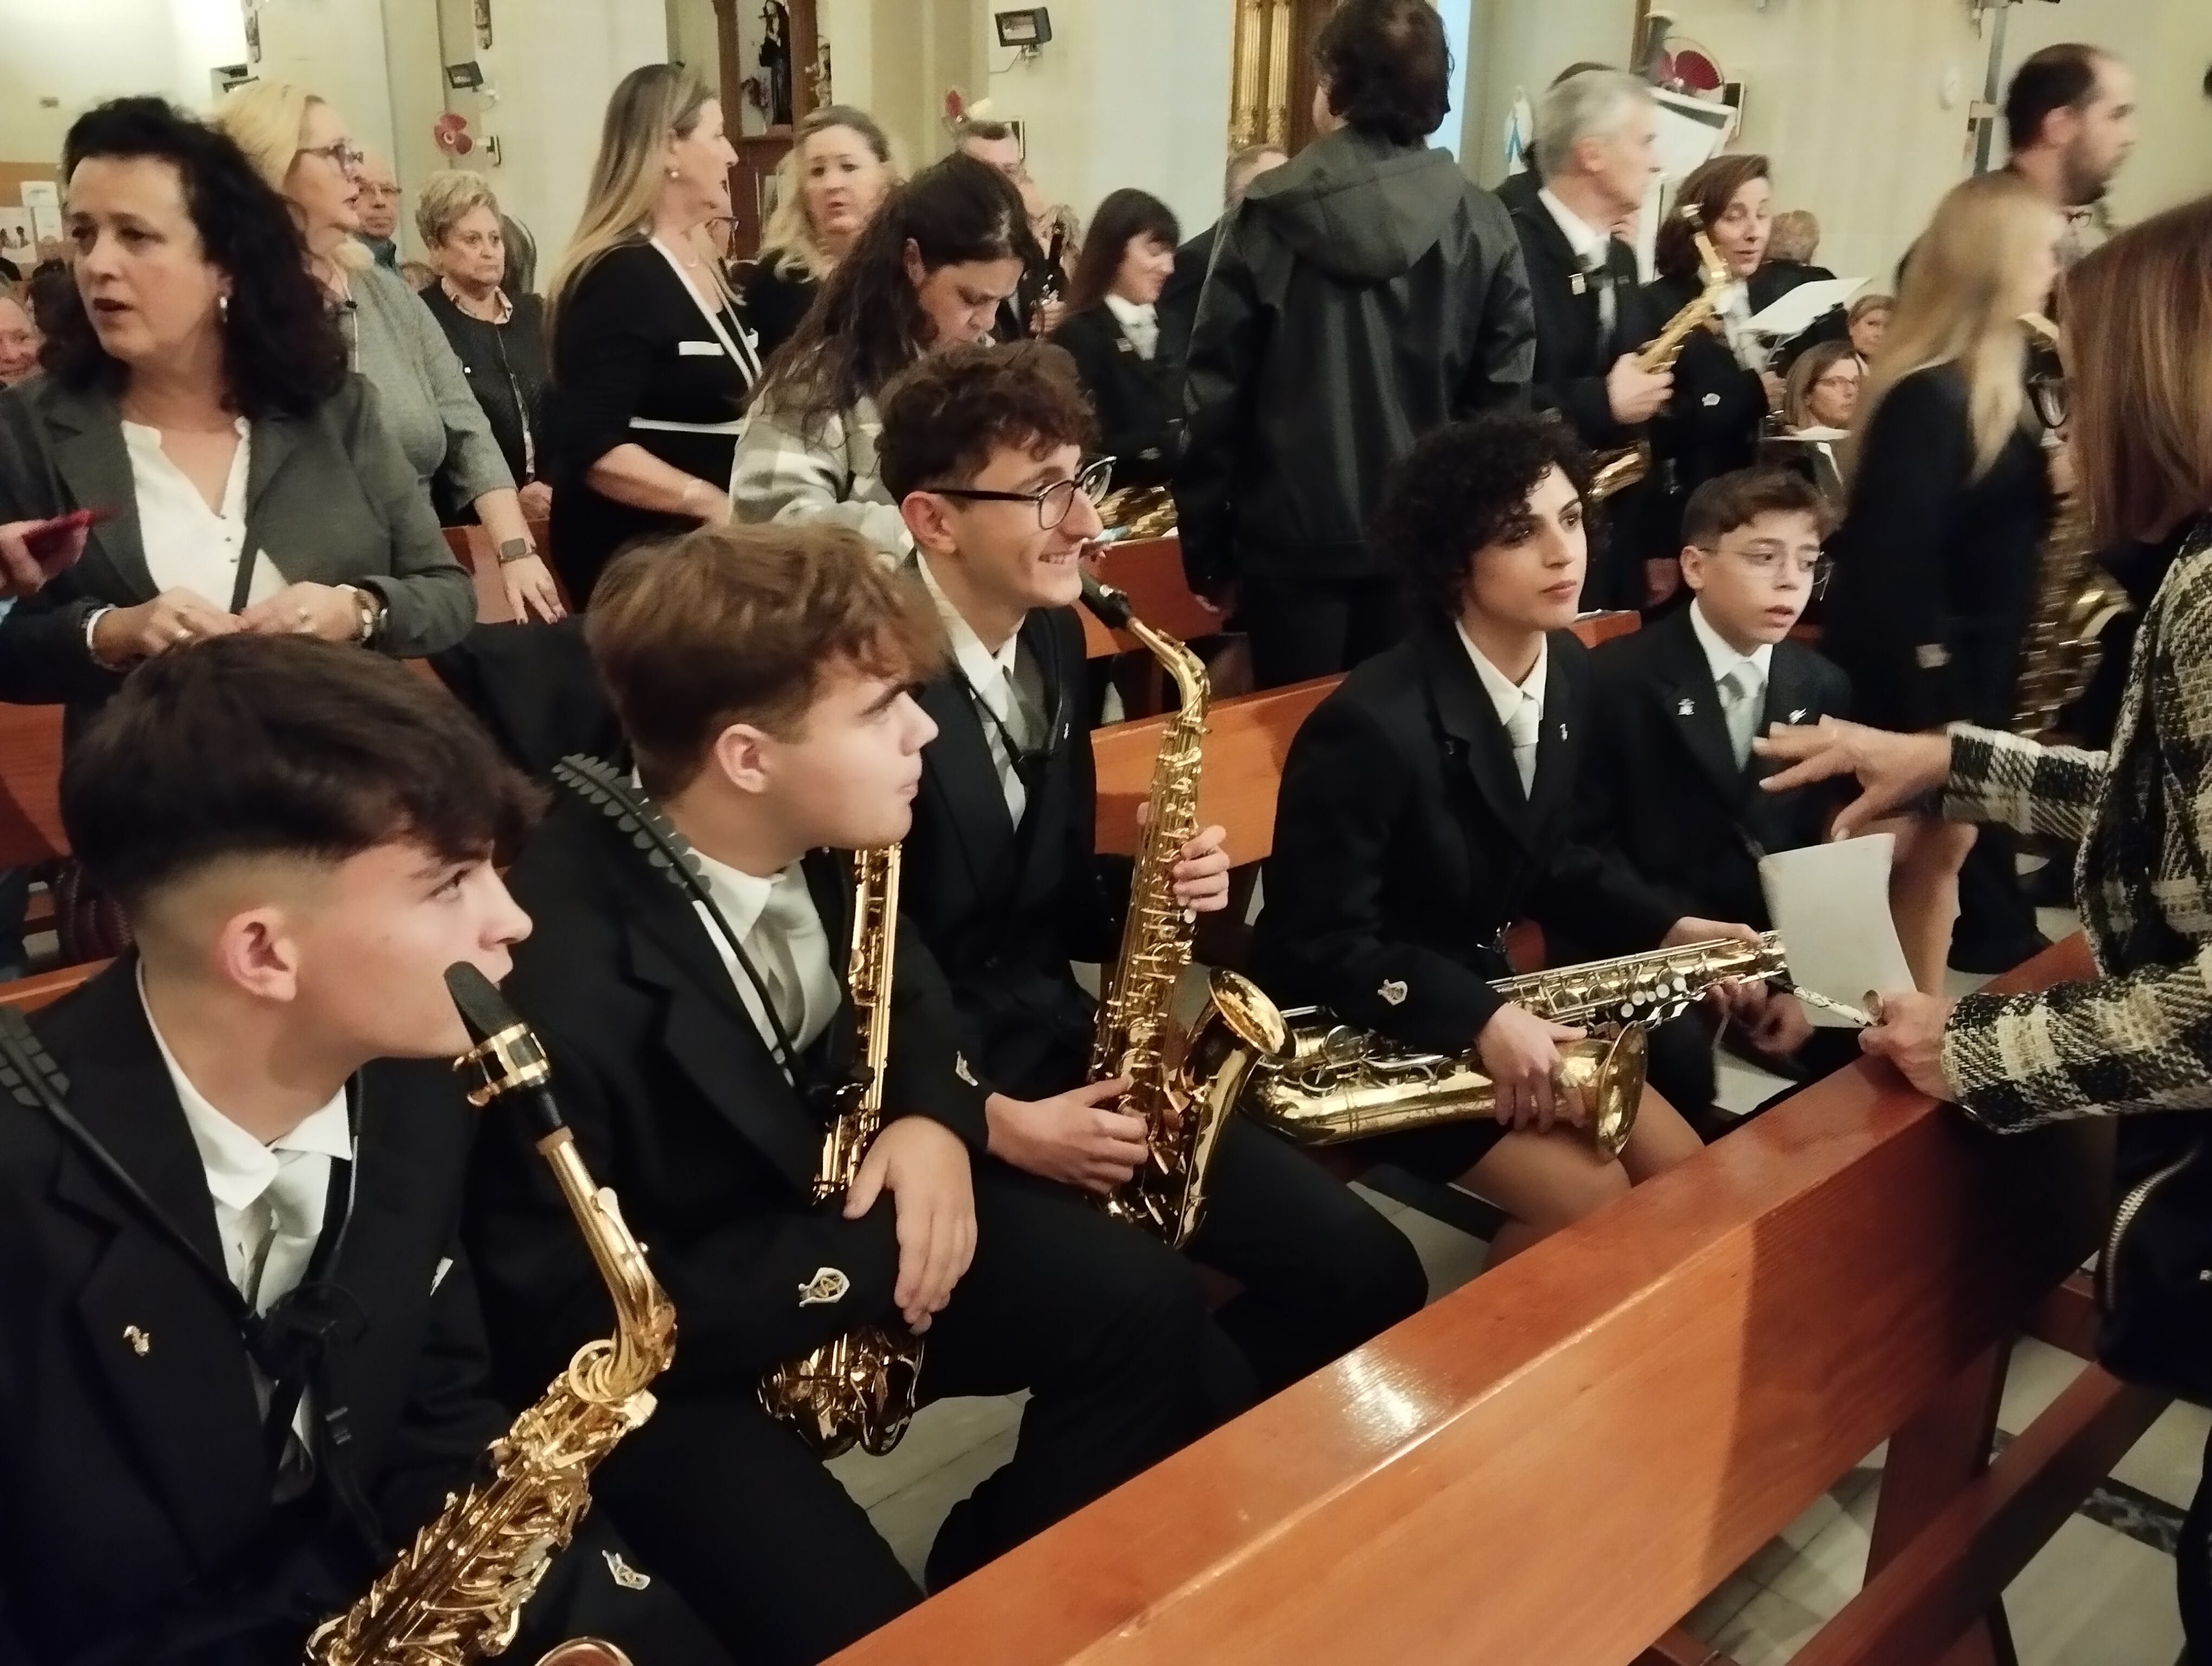
[[[876,476],[876,400],[922,354],[984,341],[1022,281],[1022,199],[991,166],[951,155],[891,190],[768,363],[737,442],[737,520],[827,520],[885,558],[914,544]]]

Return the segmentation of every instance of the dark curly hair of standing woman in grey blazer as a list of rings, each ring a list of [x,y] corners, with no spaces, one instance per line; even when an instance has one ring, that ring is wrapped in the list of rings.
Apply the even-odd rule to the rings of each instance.
[[[292,210],[230,139],[166,100],[119,97],[69,128],[62,177],[93,157],[150,157],[177,170],[199,248],[230,277],[221,327],[230,409],[248,420],[307,416],[345,385],[345,336],[307,274]],[[77,389],[122,392],[131,372],[100,345],[77,285],[58,288],[51,308],[40,301],[46,374]]]

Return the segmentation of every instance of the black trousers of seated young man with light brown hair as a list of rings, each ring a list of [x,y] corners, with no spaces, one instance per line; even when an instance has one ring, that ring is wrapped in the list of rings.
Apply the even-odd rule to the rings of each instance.
[[[931,1589],[1250,1396],[1175,1250],[991,1162],[975,1166],[975,1261],[925,1339],[922,1394],[1031,1398],[1015,1456],[938,1533]],[[593,1491],[748,1666],[810,1666],[920,1602],[867,1511],[761,1409],[752,1381],[672,1387]]]

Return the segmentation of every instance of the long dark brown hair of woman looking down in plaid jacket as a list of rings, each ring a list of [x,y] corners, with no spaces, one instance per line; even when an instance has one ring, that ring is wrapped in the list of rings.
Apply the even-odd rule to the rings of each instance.
[[[936,325],[907,277],[907,243],[925,272],[969,261],[1018,261],[1033,248],[1022,197],[1006,177],[956,150],[894,186],[867,230],[823,283],[752,394],[799,434],[814,436],[832,416],[920,358]]]

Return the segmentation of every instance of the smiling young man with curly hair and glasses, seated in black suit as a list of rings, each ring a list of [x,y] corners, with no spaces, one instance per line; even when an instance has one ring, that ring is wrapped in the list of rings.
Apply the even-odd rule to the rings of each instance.
[[[1106,465],[1060,347],[953,347],[885,396],[878,465],[951,639],[920,690],[936,739],[907,834],[907,912],[945,967],[960,1047],[987,1091],[989,1155],[1108,1193],[1146,1162],[1146,1128],[1084,1082],[1095,1004],[1073,960],[1115,956],[1124,898],[1099,874],[1077,562],[1099,535]],[[1186,909],[1228,903],[1221,827],[1175,870]],[[1230,1120],[1190,1254],[1243,1290],[1219,1310],[1265,1392],[1420,1308],[1411,1243],[1310,1157]]]

